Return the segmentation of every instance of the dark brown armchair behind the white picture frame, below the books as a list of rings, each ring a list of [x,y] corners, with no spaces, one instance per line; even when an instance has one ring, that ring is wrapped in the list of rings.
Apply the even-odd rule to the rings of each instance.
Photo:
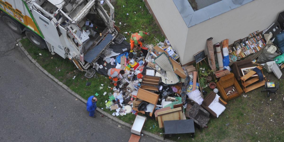
[[[237,80],[241,80],[241,76],[243,76],[241,68],[248,68],[252,67],[251,59],[241,60],[238,62],[234,62],[232,65],[232,71],[235,75],[235,78]]]

